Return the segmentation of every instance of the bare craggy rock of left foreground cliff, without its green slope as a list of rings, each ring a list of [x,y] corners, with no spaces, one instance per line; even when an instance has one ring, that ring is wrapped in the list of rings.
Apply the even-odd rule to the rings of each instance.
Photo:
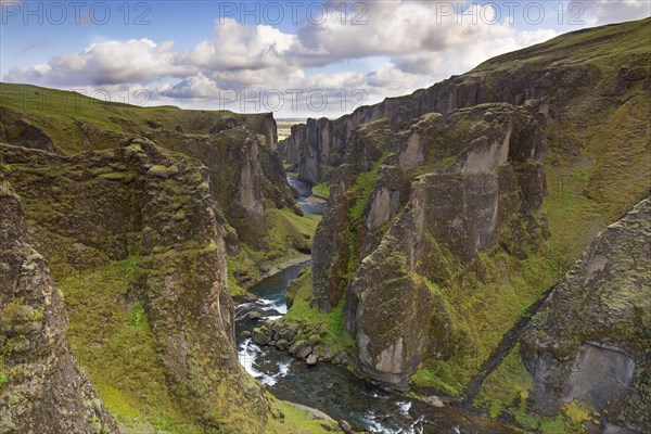
[[[0,155],[11,165],[8,178],[23,197],[34,222],[30,229],[46,253],[67,248],[53,235],[60,234],[92,247],[99,257],[119,260],[132,247],[126,233],[141,234],[139,253],[146,264],[129,277],[129,284],[146,311],[158,350],[156,368],[166,375],[173,396],[179,406],[196,409],[206,426],[238,432],[235,418],[246,418],[255,424],[247,432],[261,432],[266,400],[261,386],[237,360],[226,230],[206,188],[206,167],[145,139],[75,156],[0,144]],[[51,173],[53,167],[60,176],[24,176],[24,170]],[[108,178],[102,176],[105,170],[97,170],[105,167],[112,169]],[[175,176],[159,176],[169,171]],[[53,188],[59,219],[35,206],[49,201]],[[178,197],[184,197],[180,215],[174,205]],[[240,393],[246,394],[245,403],[238,401]],[[222,406],[219,411],[216,405]]]

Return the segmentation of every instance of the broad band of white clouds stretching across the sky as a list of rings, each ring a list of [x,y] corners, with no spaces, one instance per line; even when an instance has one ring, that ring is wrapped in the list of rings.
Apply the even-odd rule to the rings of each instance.
[[[490,8],[471,7],[459,22],[457,16],[437,18],[441,11],[434,2],[367,4],[367,25],[354,26],[349,20],[342,25],[339,14],[329,14],[323,25],[304,23],[296,34],[289,34],[225,20],[215,24],[208,39],[187,51],[175,51],[173,42],[112,40],[13,68],[5,79],[59,87],[149,86],[152,103],[193,107],[212,106],[225,90],[242,89],[323,90],[333,101],[342,91],[348,101],[355,90],[363,90],[368,102],[376,102],[556,36],[552,29],[522,31],[509,24],[490,24],[487,20],[495,13]],[[473,13],[485,20],[473,23]],[[367,74],[354,67],[341,71],[354,59],[382,59],[383,64]],[[331,72],[335,65],[336,72]]]

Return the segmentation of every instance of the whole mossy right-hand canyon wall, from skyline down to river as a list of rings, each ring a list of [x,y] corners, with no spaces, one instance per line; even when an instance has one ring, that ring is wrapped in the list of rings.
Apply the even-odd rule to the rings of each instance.
[[[311,303],[343,309],[361,374],[461,395],[597,233],[648,194],[650,33],[643,20],[567,34],[293,128],[285,157],[331,186]]]

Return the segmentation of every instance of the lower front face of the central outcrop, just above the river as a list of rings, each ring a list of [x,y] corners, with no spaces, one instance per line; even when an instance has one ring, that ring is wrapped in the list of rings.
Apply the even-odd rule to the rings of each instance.
[[[434,302],[424,282],[409,276],[408,258],[391,241],[385,239],[356,272],[346,297],[346,330],[356,337],[363,374],[408,388],[427,341],[423,319]]]

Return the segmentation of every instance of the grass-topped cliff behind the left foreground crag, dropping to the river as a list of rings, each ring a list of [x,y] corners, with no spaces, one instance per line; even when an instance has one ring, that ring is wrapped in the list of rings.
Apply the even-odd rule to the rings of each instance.
[[[271,114],[139,107],[0,84],[0,140],[7,143],[75,155],[114,149],[133,136],[207,167],[209,192],[227,226],[234,294],[273,264],[310,250],[310,233],[302,226],[314,222],[302,217],[295,203]]]

